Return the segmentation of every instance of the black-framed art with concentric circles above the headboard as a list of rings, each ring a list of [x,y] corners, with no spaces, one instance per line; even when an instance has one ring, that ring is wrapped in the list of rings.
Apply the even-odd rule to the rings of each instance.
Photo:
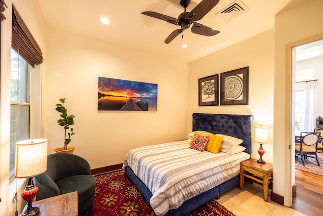
[[[248,105],[249,67],[221,73],[220,105]]]

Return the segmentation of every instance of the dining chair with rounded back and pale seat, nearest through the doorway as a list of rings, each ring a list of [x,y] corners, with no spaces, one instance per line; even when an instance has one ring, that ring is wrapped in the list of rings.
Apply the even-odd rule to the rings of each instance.
[[[300,143],[295,144],[295,154],[300,154],[303,165],[305,157],[315,155],[317,165],[320,166],[317,158],[317,145],[321,135],[320,132],[301,132]]]

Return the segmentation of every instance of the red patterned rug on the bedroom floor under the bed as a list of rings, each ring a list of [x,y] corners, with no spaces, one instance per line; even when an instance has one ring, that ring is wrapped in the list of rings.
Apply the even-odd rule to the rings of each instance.
[[[85,216],[153,216],[155,213],[122,170],[96,175],[95,199]],[[235,216],[211,200],[186,216]]]

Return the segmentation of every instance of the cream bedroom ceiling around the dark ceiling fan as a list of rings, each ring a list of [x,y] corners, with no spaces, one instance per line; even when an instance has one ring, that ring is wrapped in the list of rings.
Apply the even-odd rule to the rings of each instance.
[[[216,27],[219,34],[207,37],[187,29],[183,32],[183,38],[179,35],[170,44],[165,44],[164,40],[179,26],[142,15],[141,12],[153,11],[177,18],[184,12],[180,0],[39,0],[39,4],[49,27],[127,46],[138,52],[151,52],[152,55],[158,53],[190,62],[274,28],[277,13],[304,0],[241,1],[250,10],[229,22],[216,13],[235,0],[220,0],[218,5],[197,21]],[[192,0],[187,11],[200,2]],[[107,17],[111,23],[100,23],[101,17]],[[182,44],[188,48],[180,48]]]

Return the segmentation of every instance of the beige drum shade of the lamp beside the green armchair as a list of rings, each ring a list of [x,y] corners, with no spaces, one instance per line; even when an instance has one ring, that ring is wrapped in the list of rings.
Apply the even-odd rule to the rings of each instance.
[[[16,143],[16,178],[31,178],[47,169],[47,140],[24,140]]]

